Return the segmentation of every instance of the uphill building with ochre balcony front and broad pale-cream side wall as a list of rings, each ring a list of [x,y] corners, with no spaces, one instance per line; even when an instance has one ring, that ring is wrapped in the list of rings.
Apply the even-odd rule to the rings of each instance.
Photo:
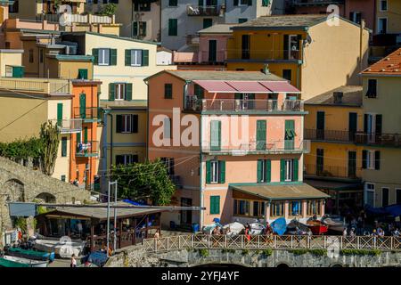
[[[327,15],[259,17],[233,27],[228,70],[262,70],[291,81],[303,99],[340,85],[358,85],[367,66],[369,31]],[[362,68],[361,68],[362,67]]]

